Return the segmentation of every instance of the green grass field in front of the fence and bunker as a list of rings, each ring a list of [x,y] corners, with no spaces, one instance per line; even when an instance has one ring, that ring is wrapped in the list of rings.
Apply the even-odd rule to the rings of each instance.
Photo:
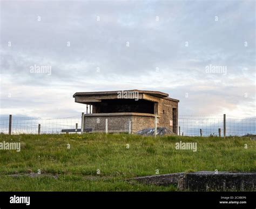
[[[21,151],[0,150],[0,191],[176,191],[174,186],[125,180],[154,175],[156,170],[256,171],[256,141],[248,137],[0,134],[2,141],[21,142]],[[176,150],[179,141],[197,142],[197,152]],[[40,177],[26,176],[38,170]]]

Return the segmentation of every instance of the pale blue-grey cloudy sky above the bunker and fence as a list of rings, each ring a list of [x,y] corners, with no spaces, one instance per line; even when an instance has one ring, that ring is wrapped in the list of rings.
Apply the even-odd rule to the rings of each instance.
[[[0,29],[2,115],[74,116],[75,92],[129,89],[256,115],[255,1],[1,1]]]

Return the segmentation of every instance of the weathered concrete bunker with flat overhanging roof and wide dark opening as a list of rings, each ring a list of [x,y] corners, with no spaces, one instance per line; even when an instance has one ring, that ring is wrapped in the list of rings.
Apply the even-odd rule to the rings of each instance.
[[[158,127],[166,127],[178,133],[178,102],[159,91],[98,91],[77,92],[75,102],[91,105],[84,115],[84,129],[105,131],[105,119],[109,132],[131,132],[154,127],[157,115]]]

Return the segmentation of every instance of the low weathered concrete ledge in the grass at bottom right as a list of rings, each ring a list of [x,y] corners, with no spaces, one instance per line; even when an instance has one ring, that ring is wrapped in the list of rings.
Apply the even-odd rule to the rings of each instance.
[[[177,185],[180,191],[256,191],[256,172],[171,173],[134,180],[158,186]]]

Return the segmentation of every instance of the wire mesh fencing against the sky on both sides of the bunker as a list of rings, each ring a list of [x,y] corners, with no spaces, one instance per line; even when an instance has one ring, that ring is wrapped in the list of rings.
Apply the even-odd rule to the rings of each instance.
[[[66,118],[12,117],[12,134],[61,133],[63,129],[81,129],[81,115]],[[256,134],[256,118],[226,117],[226,136]],[[184,136],[224,136],[223,116],[179,116],[178,133]],[[127,129],[128,130],[128,129]],[[0,133],[9,133],[9,117],[0,117]]]

